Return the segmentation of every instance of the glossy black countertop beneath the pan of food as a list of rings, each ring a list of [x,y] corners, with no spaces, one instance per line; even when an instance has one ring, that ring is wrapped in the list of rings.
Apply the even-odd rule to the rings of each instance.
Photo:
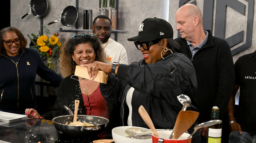
[[[104,130],[96,136],[71,137],[58,132],[51,120],[0,122],[0,143],[92,143],[97,139],[112,139],[111,130]]]

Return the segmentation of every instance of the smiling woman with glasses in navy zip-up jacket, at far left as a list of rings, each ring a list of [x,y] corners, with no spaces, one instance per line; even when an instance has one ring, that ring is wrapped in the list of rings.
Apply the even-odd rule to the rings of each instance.
[[[36,108],[35,77],[60,84],[62,77],[47,68],[21,31],[6,27],[0,31],[0,111],[24,114]]]

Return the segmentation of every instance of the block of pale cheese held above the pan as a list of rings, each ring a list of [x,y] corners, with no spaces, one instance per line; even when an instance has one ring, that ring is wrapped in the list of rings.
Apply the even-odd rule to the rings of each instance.
[[[91,79],[89,77],[89,73],[86,67],[76,66],[75,67],[75,76]],[[100,82],[100,83],[107,83],[107,73],[104,71],[98,71],[97,76],[93,81]]]

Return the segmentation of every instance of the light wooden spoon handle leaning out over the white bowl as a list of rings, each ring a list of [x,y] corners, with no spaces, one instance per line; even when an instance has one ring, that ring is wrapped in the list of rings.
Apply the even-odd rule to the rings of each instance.
[[[160,136],[158,135],[156,128],[151,120],[151,118],[149,117],[146,109],[140,105],[139,106],[139,115],[141,116],[141,118],[144,120],[144,122],[148,125],[148,127],[153,131],[153,133],[160,138]]]

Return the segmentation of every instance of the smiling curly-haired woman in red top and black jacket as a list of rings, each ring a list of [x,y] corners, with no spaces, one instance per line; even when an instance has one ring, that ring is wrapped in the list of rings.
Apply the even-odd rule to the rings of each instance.
[[[79,100],[77,114],[104,117],[110,120],[110,128],[118,126],[120,107],[104,99],[100,93],[99,82],[79,77],[75,80],[72,76],[76,65],[89,64],[94,61],[106,63],[106,57],[97,35],[81,33],[70,37],[60,51],[59,71],[64,79],[58,88],[53,111],[42,117],[52,120],[54,117],[68,115],[63,105],[69,106],[74,111],[75,100]],[[28,117],[40,118],[34,109],[26,109],[25,113]]]

